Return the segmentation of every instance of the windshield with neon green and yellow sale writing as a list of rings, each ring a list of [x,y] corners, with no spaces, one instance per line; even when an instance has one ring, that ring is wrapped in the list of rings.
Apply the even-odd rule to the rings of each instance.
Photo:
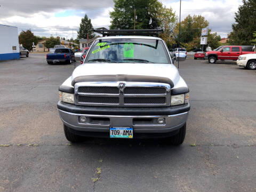
[[[102,39],[92,45],[85,63],[170,63],[164,43],[158,39]]]

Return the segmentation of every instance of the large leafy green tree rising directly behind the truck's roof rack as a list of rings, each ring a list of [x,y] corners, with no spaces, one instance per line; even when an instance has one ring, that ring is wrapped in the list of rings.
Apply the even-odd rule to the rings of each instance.
[[[162,4],[157,0],[114,0],[114,11],[110,12],[110,29],[133,29],[134,10],[137,15],[135,29],[155,29],[159,26],[158,10]]]

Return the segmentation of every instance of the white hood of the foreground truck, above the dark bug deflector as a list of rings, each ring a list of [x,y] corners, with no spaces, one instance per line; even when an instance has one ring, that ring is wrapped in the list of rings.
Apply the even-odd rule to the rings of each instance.
[[[169,78],[174,85],[180,75],[172,64],[159,63],[84,63],[78,66],[71,76],[71,81],[79,76],[90,75],[138,75]]]

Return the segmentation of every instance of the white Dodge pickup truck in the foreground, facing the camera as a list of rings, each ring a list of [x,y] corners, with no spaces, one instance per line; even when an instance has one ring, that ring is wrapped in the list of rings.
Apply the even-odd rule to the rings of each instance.
[[[185,139],[189,89],[161,38],[99,37],[83,65],[60,85],[59,96],[59,115],[71,142],[167,138],[181,145]]]

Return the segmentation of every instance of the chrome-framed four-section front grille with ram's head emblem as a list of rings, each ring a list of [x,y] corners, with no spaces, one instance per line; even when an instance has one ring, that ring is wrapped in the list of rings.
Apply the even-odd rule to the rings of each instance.
[[[170,89],[170,85],[164,83],[76,83],[75,105],[116,107],[170,106]]]

